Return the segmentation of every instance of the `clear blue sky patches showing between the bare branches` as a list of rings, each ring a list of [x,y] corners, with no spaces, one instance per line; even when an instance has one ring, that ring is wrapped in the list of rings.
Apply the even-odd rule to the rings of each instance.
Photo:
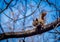
[[[6,2],[9,2],[9,1],[10,0],[6,0]],[[13,28],[15,29],[14,32],[20,32],[20,31],[22,31],[22,28],[24,28],[24,26],[23,26],[24,19],[16,21],[15,25],[13,23],[13,20],[10,19],[10,18],[12,18],[12,19],[16,18],[18,14],[20,14],[18,19],[23,18],[24,17],[23,15],[26,12],[23,10],[23,9],[25,9],[25,1],[24,0],[20,0],[20,1],[17,0],[17,4],[14,7],[12,7],[15,2],[16,2],[16,0],[14,0],[9,6],[13,10],[13,12],[10,10],[10,8],[8,8],[3,13],[0,14],[0,17],[1,17],[0,22],[1,22],[1,25],[2,25],[5,32],[11,32],[11,31],[13,31],[12,30]],[[55,4],[57,9],[60,10],[60,8],[59,8],[60,7],[60,1],[59,0],[49,0],[49,2]],[[23,3],[24,6],[21,3]],[[38,3],[39,3],[39,0],[28,0],[27,1],[27,8],[26,8],[27,12],[25,15],[26,16],[30,15],[36,9],[36,6],[38,5]],[[30,5],[32,6],[32,8],[30,7]],[[4,3],[4,1],[0,0],[0,9],[3,10],[5,7],[6,7],[6,4]],[[40,7],[36,10],[36,12],[33,15],[31,15],[25,19],[25,27],[26,26],[32,26],[33,19],[39,18],[39,15],[41,14],[42,10],[47,11],[46,24],[51,23],[52,21],[54,21],[56,19],[55,17],[53,17],[53,15],[56,16],[56,11],[48,12],[51,10],[56,10],[56,8],[53,5],[49,6],[49,4],[46,1],[42,1],[40,3]],[[59,14],[59,13],[57,12],[57,14]],[[10,18],[8,18],[8,17],[10,17]],[[10,30],[10,27],[11,27],[11,30]],[[27,28],[27,30],[28,30],[28,28]],[[58,27],[57,30],[60,30],[60,27]],[[54,29],[51,31],[54,31]],[[38,41],[39,42],[40,41],[41,42],[44,42],[44,41],[54,42],[55,41],[54,37],[59,36],[59,35],[58,34],[57,35],[51,34],[49,32],[50,31],[43,33],[41,35],[35,35],[35,36],[27,37],[25,39],[25,41],[26,42],[32,42],[32,40],[33,40],[34,42],[38,42]],[[0,30],[0,33],[2,33],[1,30]],[[43,40],[43,37],[44,37],[44,40]],[[50,38],[50,39],[48,39],[48,38]],[[23,39],[23,38],[13,38],[13,39],[11,38],[11,39],[8,39],[8,41],[9,42],[10,41],[17,42],[20,39]],[[1,42],[6,42],[6,40],[2,40]],[[57,42],[60,42],[60,41],[57,41]]]

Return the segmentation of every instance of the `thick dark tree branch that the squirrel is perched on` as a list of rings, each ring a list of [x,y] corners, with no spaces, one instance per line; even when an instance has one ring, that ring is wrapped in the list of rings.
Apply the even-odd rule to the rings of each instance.
[[[8,38],[22,38],[22,37],[29,37],[29,36],[33,36],[33,35],[37,35],[37,34],[42,34],[44,32],[47,32],[51,29],[54,29],[54,27],[60,23],[60,18],[57,20],[55,20],[54,22],[45,25],[43,28],[45,29],[40,29],[41,25],[38,25],[36,28],[34,28],[33,30],[27,30],[27,31],[23,31],[23,32],[7,32],[7,33],[2,33],[0,34],[0,40],[3,39],[8,39]],[[60,24],[58,25],[60,26]]]

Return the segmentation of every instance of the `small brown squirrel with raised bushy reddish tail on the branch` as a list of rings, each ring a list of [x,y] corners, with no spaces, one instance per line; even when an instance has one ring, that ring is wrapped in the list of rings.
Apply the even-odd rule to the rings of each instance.
[[[40,18],[36,18],[35,20],[33,20],[33,26],[36,27],[38,24],[41,24],[42,26],[44,26],[46,14],[47,14],[46,12],[43,12],[43,13],[40,15]]]

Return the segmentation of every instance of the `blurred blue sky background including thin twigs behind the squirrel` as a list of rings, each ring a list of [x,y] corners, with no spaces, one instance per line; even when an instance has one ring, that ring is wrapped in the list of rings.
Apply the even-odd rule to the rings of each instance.
[[[48,0],[50,3],[47,3],[46,0],[13,0],[9,7],[2,13],[0,13],[0,24],[4,32],[21,32],[23,30],[32,30],[34,27],[32,25],[33,19],[39,18],[42,11],[46,11],[46,23],[49,24],[57,19],[60,16],[60,0]],[[9,3],[10,0],[5,0],[6,3]],[[4,0],[0,0],[0,11],[4,10],[7,4]],[[37,8],[40,2],[39,8]],[[54,6],[55,5],[55,6]],[[36,10],[34,12],[34,10]],[[32,14],[32,12],[34,12]],[[26,18],[24,18],[26,17]],[[16,21],[15,21],[16,20]],[[28,27],[31,26],[31,27]],[[41,35],[35,35],[31,37],[26,37],[26,42],[60,42],[60,34],[54,34],[49,32],[60,32],[60,27],[57,29],[50,30]],[[0,33],[3,33],[0,29]],[[5,39],[0,42],[19,42],[24,38],[10,38]]]

